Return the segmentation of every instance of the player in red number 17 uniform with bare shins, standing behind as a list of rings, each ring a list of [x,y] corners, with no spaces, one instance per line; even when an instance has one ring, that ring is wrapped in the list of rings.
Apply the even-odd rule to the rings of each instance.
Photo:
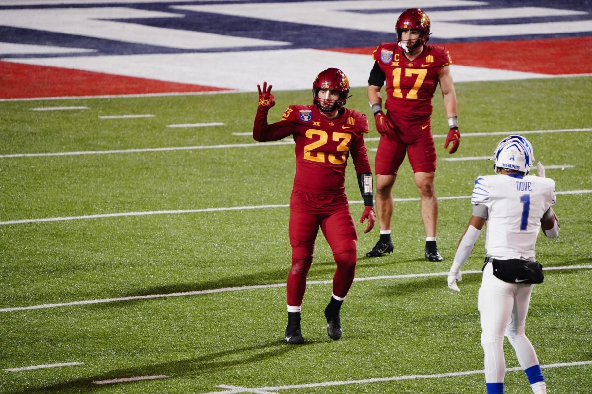
[[[430,19],[421,9],[404,11],[397,19],[396,30],[397,43],[383,43],[374,51],[374,69],[368,79],[368,103],[381,135],[375,159],[380,239],[366,256],[382,256],[393,250],[392,185],[407,152],[422,198],[425,256],[429,261],[442,261],[436,246],[436,149],[430,116],[432,97],[439,83],[450,126],[444,147],[452,144],[450,153],[456,152],[461,135],[458,131],[456,92],[449,67],[452,59],[446,48],[427,45]],[[387,113],[382,112],[380,92],[385,82]]]

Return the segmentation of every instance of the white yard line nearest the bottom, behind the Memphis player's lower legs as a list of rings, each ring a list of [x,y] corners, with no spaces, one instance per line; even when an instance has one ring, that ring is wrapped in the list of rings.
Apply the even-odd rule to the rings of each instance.
[[[558,363],[548,364],[540,366],[543,369],[549,368],[562,368],[562,367],[574,367],[592,365],[592,361],[582,361],[573,363]],[[522,371],[520,367],[508,368],[506,372],[519,372]],[[467,376],[467,375],[482,375],[485,373],[483,370],[475,371],[461,371],[461,372],[449,372],[449,373],[437,373],[434,375],[404,375],[404,376],[390,376],[390,377],[374,377],[371,379],[358,379],[358,380],[336,380],[329,382],[318,382],[318,383],[304,383],[302,385],[289,385],[289,386],[266,386],[258,388],[243,388],[237,386],[218,385],[217,387],[223,389],[230,389],[224,391],[211,391],[203,394],[233,394],[233,393],[266,393],[271,394],[277,390],[293,390],[293,389],[308,389],[315,387],[327,387],[327,386],[345,386],[345,385],[361,385],[367,383],[382,383],[382,382],[396,382],[397,380],[413,380],[413,379],[442,379],[443,377],[456,377],[456,376]]]

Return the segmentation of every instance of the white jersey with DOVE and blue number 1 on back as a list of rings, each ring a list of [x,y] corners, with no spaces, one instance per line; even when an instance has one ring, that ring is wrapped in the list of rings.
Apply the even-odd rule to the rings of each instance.
[[[535,260],[540,219],[555,201],[555,181],[551,178],[478,177],[471,203],[487,207],[487,256]]]

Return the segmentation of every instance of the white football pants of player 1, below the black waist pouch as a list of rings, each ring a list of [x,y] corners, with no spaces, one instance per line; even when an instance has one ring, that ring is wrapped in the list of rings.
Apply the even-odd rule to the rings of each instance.
[[[539,363],[535,349],[525,335],[526,315],[534,285],[504,282],[493,275],[493,264],[487,263],[479,288],[478,309],[481,314],[481,345],[485,351],[485,382],[501,383],[506,375],[504,335],[516,351],[523,370]]]

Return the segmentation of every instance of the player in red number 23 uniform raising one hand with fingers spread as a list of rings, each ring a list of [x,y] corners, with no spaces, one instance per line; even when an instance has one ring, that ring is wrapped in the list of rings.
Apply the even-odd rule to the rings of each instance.
[[[320,227],[337,263],[333,291],[324,314],[327,334],[338,340],[342,336],[339,312],[352,285],[357,261],[358,236],[345,194],[345,168],[350,155],[365,205],[360,223],[368,219],[364,233],[372,230],[375,222],[372,172],[363,139],[368,132],[368,120],[366,115],[344,107],[349,82],[341,70],[327,69],[318,74],[313,83],[314,105],[291,105],[281,121],[269,125],[267,115],[275,105],[271,87],[266,82],[263,89],[257,86],[259,106],[253,139],[266,142],[292,136],[296,155],[288,227],[292,267],[286,285],[285,338],[288,343],[304,343],[300,312]]]

